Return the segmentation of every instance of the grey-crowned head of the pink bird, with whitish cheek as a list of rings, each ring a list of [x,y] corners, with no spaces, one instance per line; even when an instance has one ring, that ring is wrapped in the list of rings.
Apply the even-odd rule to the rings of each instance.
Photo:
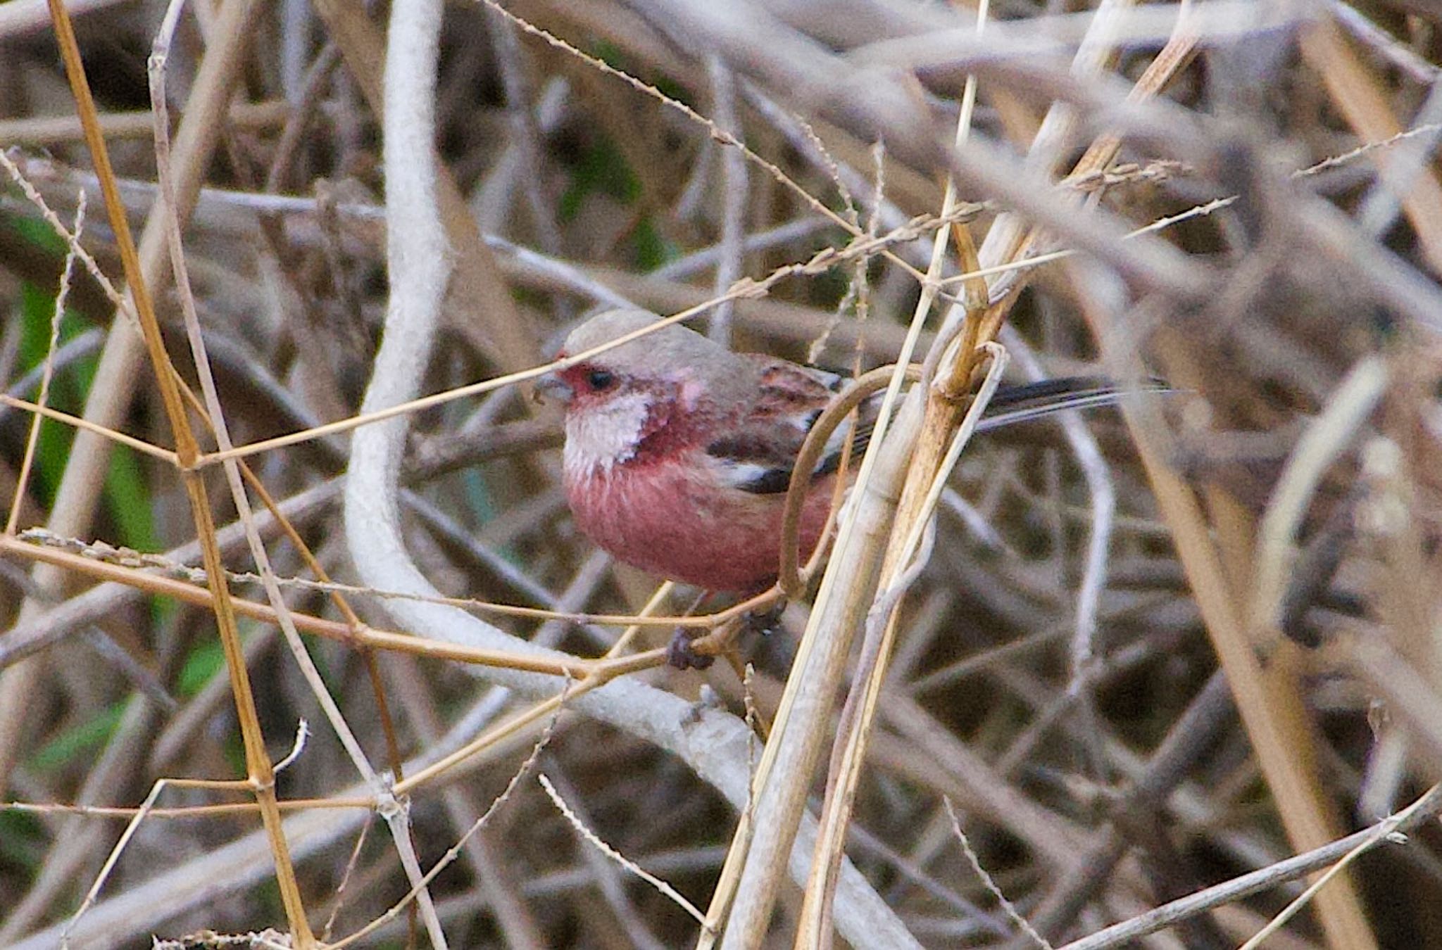
[[[565,337],[558,358],[574,356],[652,326],[646,310],[607,310]],[[568,470],[610,469],[636,456],[642,440],[714,402],[735,385],[741,363],[724,346],[679,324],[597,353],[542,376],[536,389],[565,402]]]

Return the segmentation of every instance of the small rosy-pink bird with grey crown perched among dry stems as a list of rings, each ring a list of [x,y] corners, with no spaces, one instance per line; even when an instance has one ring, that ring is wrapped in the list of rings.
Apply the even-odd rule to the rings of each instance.
[[[613,308],[580,323],[558,359],[660,317]],[[580,531],[619,561],[702,591],[751,595],[780,568],[782,510],[806,434],[846,378],[738,353],[672,323],[541,376],[565,404],[562,484]],[[1113,402],[1096,378],[1002,386],[979,430],[1063,408]],[[820,541],[848,427],[809,473],[799,546]],[[858,425],[861,437],[870,427]]]

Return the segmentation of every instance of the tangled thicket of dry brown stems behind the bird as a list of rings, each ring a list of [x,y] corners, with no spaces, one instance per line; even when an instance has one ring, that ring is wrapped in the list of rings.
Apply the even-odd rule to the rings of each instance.
[[[395,174],[381,160],[385,26],[350,0],[192,6],[164,76],[173,187],[229,440],[247,445],[355,417],[372,376]],[[966,450],[861,727],[846,855],[865,881],[844,881],[838,905],[874,892],[923,946],[1063,946],[1262,869],[1265,887],[1131,937],[1239,946],[1306,887],[1279,862],[1373,829],[1374,846],[1266,946],[1442,946],[1442,806],[1426,797],[1400,845],[1376,825],[1442,777],[1442,17],[1419,0],[1102,0],[1102,14],[1008,0],[978,36],[962,6],[453,4],[435,112],[456,271],[430,360],[408,368],[414,388],[541,366],[580,316],[622,300],[698,308],[695,326],[740,349],[885,365],[939,231],[953,238],[939,277],[1030,258],[986,284],[942,281],[917,359],[937,334],[945,345],[946,314],[968,313],[983,329],[963,339],[999,332],[1018,375],[1158,376],[1177,392]],[[120,193],[137,235],[156,232],[141,261],[162,342],[200,392],[143,114],[164,9],[92,7],[76,14],[79,49]],[[123,284],[55,42],[43,4],[0,4],[0,497],[13,512],[0,538],[0,799],[19,803],[0,810],[0,944],[56,946],[104,876],[71,946],[286,930],[293,901],[323,938],[381,921],[366,940],[386,946],[408,928],[424,940],[427,920],[450,946],[691,946],[692,915],[580,829],[705,911],[738,819],[692,771],[705,768],[587,715],[584,676],[601,666],[571,669],[554,712],[477,679],[510,660],[473,643],[421,654],[365,639],[362,621],[405,626],[388,613],[397,601],[303,582],[316,571],[264,515],[319,679],[375,770],[414,774],[437,750],[535,715],[405,787],[421,869],[464,843],[427,887],[434,917],[382,921],[411,889],[410,856],[372,827],[375,787],[358,784],[277,626],[242,611],[271,758],[298,719],[314,732],[280,774],[280,800],[349,807],[286,812],[296,882],[281,900],[245,787],[163,790],[162,810],[245,804],[149,814],[102,875],[133,812],[59,806],[133,809],[159,778],[244,777],[249,725],[205,575],[185,569],[200,556],[176,460],[56,418],[27,453],[33,415],[16,399],[39,401],[42,378],[53,409],[176,445],[134,333],[144,316],[117,316],[37,205],[74,226],[84,193],[81,245]],[[969,131],[953,147],[959,120]],[[1076,254],[1034,259],[1058,251]],[[633,614],[655,580],[578,536],[558,487],[558,418],[528,396],[506,385],[410,414],[407,551],[457,598]],[[340,513],[350,438],[342,425],[247,456],[339,585],[359,580]],[[200,443],[216,447],[208,432]],[[199,471],[232,592],[264,603],[221,466]],[[676,592],[658,613],[686,605]],[[577,657],[624,627],[476,610]],[[743,639],[735,663],[623,676],[696,701],[698,721],[737,725],[720,706],[764,735],[808,611],[793,600],[782,630]],[[617,656],[668,636],[642,627]],[[558,670],[535,662],[522,667]],[[833,721],[862,679],[820,685]],[[758,735],[696,755],[746,770],[760,747]],[[820,812],[826,767],[812,778]],[[766,946],[790,946],[802,889],[774,898]],[[894,943],[883,933],[871,936]],[[1084,946],[1118,946],[1107,940]]]

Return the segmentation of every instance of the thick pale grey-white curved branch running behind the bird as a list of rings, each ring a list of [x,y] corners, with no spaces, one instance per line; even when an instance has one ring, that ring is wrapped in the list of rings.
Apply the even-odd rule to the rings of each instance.
[[[373,412],[418,394],[430,359],[451,257],[435,197],[434,75],[438,0],[397,0],[385,69],[385,172],[391,298],[375,372],[362,404]],[[371,587],[421,595],[435,588],[411,561],[401,536],[397,474],[405,444],[404,417],[360,427],[350,447],[345,523],[350,558]],[[421,636],[518,653],[548,652],[443,604],[389,600],[397,623]],[[548,652],[549,653],[549,652]],[[555,678],[472,667],[516,692],[552,696]],[[681,757],[702,780],[741,809],[748,790],[747,727],[721,711],[698,716],[691,703],[636,680],[616,680],[572,702],[585,715],[610,722]],[[805,881],[815,822],[805,822],[790,869]],[[916,946],[901,921],[846,866],[836,901],[836,925],[858,947]]]

